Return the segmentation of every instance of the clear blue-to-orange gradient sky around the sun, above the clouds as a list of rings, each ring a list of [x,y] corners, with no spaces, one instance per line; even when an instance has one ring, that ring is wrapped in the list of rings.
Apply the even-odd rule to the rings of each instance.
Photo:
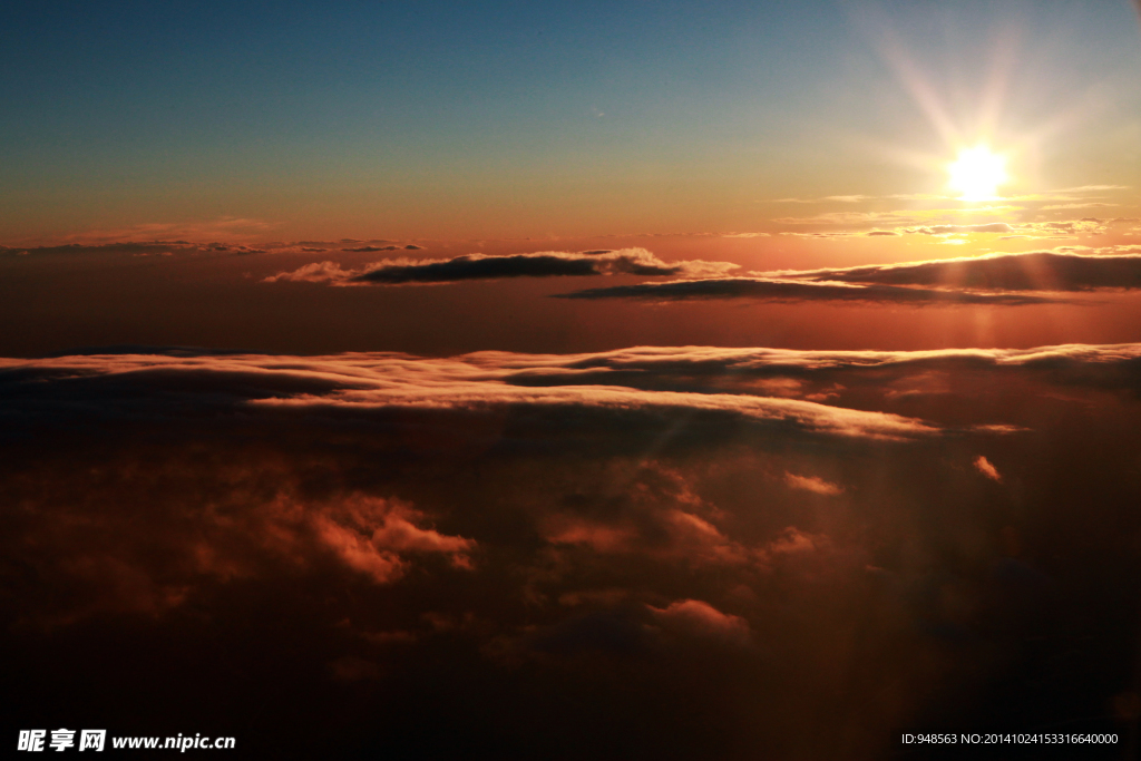
[[[8,3],[0,241],[764,230],[979,138],[1006,193],[1130,186],[1138,38],[1125,0]]]

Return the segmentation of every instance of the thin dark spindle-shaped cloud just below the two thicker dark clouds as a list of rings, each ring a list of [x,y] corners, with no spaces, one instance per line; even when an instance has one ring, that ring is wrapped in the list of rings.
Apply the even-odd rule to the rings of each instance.
[[[793,280],[782,273],[776,277],[718,277],[705,280],[671,281],[667,283],[638,283],[594,288],[573,293],[560,293],[560,299],[639,299],[646,301],[689,301],[696,299],[754,299],[758,301],[849,301],[858,303],[900,303],[925,306],[932,303],[974,303],[995,306],[1026,306],[1052,303],[1057,299],[1020,293],[986,293],[947,289],[904,288],[898,285],[856,285]]]

